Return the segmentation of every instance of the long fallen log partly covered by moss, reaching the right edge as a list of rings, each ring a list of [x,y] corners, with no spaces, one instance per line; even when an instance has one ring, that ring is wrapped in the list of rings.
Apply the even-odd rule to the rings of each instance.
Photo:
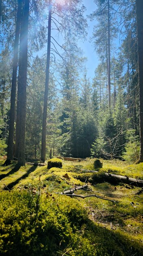
[[[86,170],[86,169],[81,169],[81,171],[85,171],[87,173],[99,173],[98,171]],[[104,180],[109,181],[111,183],[123,182],[132,186],[138,186],[141,188],[143,187],[143,180],[130,178],[128,176],[122,176],[122,175],[117,175],[112,173],[104,173],[103,177],[104,177]]]

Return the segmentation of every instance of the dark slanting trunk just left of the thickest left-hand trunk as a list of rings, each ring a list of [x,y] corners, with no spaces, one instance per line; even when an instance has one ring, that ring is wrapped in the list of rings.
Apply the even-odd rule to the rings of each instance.
[[[22,9],[22,0],[18,0],[17,21],[16,21],[16,30],[15,30],[15,43],[14,43],[14,53],[13,53],[13,73],[12,73],[12,83],[11,83],[11,108],[10,108],[10,115],[9,115],[9,137],[8,137],[7,159],[6,159],[7,164],[9,164],[11,162],[10,160],[13,159],[15,94],[16,94],[17,59],[18,59],[18,45],[19,45],[19,36],[20,36],[21,9]]]

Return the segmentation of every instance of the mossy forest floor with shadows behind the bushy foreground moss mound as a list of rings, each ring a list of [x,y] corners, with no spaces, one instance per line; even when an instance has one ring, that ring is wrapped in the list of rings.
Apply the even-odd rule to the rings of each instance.
[[[47,169],[47,166],[30,166],[28,164],[16,170],[16,163],[13,161],[10,166],[0,166],[0,191],[24,191],[26,189],[34,191],[40,188],[41,194],[54,195],[75,186],[87,184],[87,189],[78,190],[75,194],[82,196],[96,194],[115,202],[96,197],[69,198],[69,200],[78,202],[87,211],[89,219],[96,225],[113,231],[115,236],[119,233],[128,237],[139,243],[138,246],[143,249],[143,189],[122,182],[117,184],[101,182],[99,179],[102,173],[107,172],[143,180],[143,163],[128,165],[119,160],[100,160],[103,162],[103,167],[98,169],[98,175],[81,170],[95,170],[94,159],[81,162],[63,161],[61,169],[52,168],[50,170]],[[0,164],[3,162],[4,159]],[[65,195],[61,196],[66,197]],[[121,247],[123,246],[121,245]],[[143,255],[139,252],[133,254],[131,248],[128,253],[119,255]],[[112,253],[112,255],[118,254]]]

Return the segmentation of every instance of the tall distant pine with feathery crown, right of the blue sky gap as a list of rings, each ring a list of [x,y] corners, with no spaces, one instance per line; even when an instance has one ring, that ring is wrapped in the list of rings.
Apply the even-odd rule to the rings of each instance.
[[[106,62],[107,85],[108,85],[108,107],[111,108],[111,40],[117,36],[118,28],[115,25],[116,4],[119,0],[98,0],[95,3],[98,6],[96,11],[89,16],[91,20],[94,17],[98,20],[98,25],[94,26],[93,42],[101,58]],[[113,43],[112,43],[113,44]]]

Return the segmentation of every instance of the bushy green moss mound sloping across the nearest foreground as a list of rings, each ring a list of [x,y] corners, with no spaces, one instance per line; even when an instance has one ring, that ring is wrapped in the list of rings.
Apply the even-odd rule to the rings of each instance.
[[[0,255],[128,256],[143,245],[89,220],[79,203],[45,193],[0,194]]]

